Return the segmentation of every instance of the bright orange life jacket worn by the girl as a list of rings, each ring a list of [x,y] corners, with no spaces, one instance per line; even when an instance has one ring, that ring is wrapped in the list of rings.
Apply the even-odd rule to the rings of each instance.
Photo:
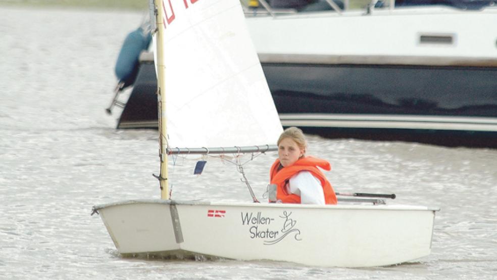
[[[283,167],[278,171],[280,166],[279,159],[271,166],[270,181],[276,184],[276,199],[281,200],[283,203],[301,203],[301,197],[295,194],[289,194],[286,191],[286,182],[296,173],[300,171],[309,171],[311,174],[319,179],[323,187],[324,201],[326,204],[336,204],[336,195],[333,187],[331,186],[326,176],[318,167],[324,170],[330,170],[330,163],[326,160],[307,156],[297,160],[293,165]]]

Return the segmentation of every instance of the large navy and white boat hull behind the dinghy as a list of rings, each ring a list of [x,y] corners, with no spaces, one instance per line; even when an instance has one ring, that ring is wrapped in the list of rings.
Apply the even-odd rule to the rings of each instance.
[[[316,12],[259,3],[245,18],[283,126],[497,148],[491,1],[372,1],[364,10],[344,1]],[[155,83],[144,54],[118,128],[157,127]]]

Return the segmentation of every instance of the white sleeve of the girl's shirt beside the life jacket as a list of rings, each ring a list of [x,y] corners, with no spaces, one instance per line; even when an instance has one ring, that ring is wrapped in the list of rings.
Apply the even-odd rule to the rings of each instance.
[[[302,204],[324,205],[321,182],[309,171],[301,171],[290,178],[289,192],[301,197]]]

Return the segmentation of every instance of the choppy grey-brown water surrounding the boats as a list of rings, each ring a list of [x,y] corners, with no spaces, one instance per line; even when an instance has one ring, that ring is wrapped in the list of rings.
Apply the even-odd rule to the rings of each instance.
[[[270,261],[122,258],[93,205],[158,198],[157,132],[115,130],[104,112],[121,42],[140,13],[0,8],[0,278],[491,279],[497,275],[497,150],[330,140],[337,191],[438,206],[432,254],[364,269]],[[245,167],[261,198],[274,155]],[[173,198],[250,201],[229,164],[171,167]],[[176,179],[176,180],[175,180]],[[201,183],[197,183],[201,182]]]

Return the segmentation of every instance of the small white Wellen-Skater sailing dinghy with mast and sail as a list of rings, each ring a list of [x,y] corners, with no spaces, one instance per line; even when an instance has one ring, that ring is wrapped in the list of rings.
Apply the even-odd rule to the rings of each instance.
[[[161,199],[93,207],[119,253],[343,267],[430,253],[435,208],[171,200],[168,155],[265,153],[282,128],[239,1],[156,0],[155,12]]]

